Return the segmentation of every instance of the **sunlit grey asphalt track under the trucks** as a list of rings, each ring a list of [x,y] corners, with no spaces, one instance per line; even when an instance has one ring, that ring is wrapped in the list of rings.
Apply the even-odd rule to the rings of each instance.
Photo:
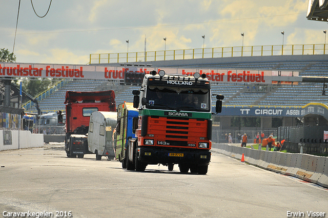
[[[214,152],[207,175],[67,158],[63,144],[1,151],[0,165],[0,217],[328,217],[328,189]]]

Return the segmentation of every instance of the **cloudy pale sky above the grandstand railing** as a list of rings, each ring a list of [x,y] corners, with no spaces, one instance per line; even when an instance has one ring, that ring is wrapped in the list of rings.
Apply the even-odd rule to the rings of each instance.
[[[13,50],[19,0],[0,0],[0,48]],[[50,0],[32,0],[39,16]],[[21,0],[18,63],[87,64],[94,53],[323,44],[326,22],[308,21],[308,0],[53,0],[39,18]],[[205,35],[203,41],[202,35]]]

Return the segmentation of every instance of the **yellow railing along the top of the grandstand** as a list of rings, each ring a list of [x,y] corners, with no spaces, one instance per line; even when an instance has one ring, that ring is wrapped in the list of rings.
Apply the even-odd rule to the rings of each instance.
[[[90,54],[89,64],[186,60],[195,58],[325,54],[326,44],[237,46],[129,53]]]

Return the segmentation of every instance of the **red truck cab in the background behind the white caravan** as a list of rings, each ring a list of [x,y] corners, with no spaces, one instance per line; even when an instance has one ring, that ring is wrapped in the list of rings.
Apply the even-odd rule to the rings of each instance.
[[[66,92],[66,127],[65,151],[68,157],[83,158],[88,150],[90,115],[93,111],[116,111],[115,93],[97,92]],[[63,114],[58,111],[58,122],[63,122]]]

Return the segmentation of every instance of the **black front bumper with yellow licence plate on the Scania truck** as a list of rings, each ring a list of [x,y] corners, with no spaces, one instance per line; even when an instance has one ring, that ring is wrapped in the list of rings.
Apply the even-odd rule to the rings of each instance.
[[[179,150],[153,147],[139,147],[138,158],[147,164],[196,164],[208,165],[211,161],[209,150]]]

